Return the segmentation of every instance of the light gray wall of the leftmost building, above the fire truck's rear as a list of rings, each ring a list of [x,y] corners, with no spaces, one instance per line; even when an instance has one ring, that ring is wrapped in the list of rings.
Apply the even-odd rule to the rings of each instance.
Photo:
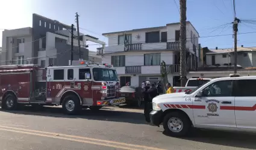
[[[24,59],[31,58],[32,53],[32,28],[20,28],[13,30],[5,30],[2,32],[2,54],[1,54],[1,65],[11,65],[12,60],[18,56],[24,56]],[[24,43],[17,44],[17,39],[23,39]],[[19,47],[19,53],[17,52]],[[30,60],[28,60],[30,63]],[[27,64],[27,61],[24,61]]]

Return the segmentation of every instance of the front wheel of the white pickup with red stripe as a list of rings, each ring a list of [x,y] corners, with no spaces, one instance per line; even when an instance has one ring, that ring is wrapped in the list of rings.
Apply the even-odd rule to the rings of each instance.
[[[191,124],[187,116],[179,112],[171,112],[164,116],[163,127],[170,136],[181,137],[188,133]]]

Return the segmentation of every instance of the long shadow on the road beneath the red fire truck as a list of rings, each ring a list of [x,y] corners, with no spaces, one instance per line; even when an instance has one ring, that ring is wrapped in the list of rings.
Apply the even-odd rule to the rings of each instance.
[[[114,110],[114,107],[102,107],[102,109],[97,112],[93,112],[90,109],[83,109],[79,115],[64,115],[61,107],[43,107],[41,110],[35,110],[31,106],[22,106],[19,110],[7,111],[0,109],[0,112],[49,116],[55,118],[82,118],[89,120],[127,122],[131,124],[146,124],[143,113]]]

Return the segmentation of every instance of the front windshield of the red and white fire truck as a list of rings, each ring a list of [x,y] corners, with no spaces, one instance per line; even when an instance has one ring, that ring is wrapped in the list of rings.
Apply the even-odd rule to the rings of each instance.
[[[107,68],[93,68],[93,79],[96,81],[118,81],[116,70]]]

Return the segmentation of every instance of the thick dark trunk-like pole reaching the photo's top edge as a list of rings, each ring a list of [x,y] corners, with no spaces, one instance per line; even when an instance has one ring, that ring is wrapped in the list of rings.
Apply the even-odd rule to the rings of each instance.
[[[186,20],[187,20],[187,0],[180,0],[180,78],[181,86],[186,85],[187,58],[186,58]]]

